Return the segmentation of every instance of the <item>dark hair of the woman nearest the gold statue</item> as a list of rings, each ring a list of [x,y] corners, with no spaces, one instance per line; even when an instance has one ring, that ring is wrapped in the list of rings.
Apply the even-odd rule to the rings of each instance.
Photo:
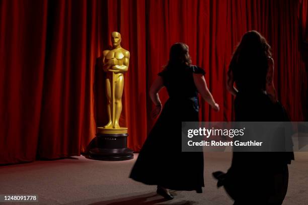
[[[190,66],[191,59],[188,53],[188,46],[185,43],[175,43],[170,48],[169,61],[165,69],[172,69],[180,66]]]

